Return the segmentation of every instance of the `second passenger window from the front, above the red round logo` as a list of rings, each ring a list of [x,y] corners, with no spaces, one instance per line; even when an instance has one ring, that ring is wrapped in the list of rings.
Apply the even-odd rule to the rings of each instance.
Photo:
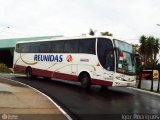
[[[78,40],[67,40],[64,45],[65,53],[78,53]]]

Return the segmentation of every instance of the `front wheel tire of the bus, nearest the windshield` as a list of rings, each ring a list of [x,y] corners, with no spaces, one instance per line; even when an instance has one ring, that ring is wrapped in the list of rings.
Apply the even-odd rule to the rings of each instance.
[[[82,74],[80,76],[80,82],[82,88],[89,88],[90,87],[90,77],[87,74]]]

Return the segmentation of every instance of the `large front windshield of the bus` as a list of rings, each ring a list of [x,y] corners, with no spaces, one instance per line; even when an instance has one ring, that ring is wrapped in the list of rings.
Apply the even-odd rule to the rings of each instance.
[[[135,75],[135,60],[132,53],[132,45],[122,42],[119,40],[114,40],[115,46],[121,51],[117,51],[116,57],[116,70],[118,73]]]

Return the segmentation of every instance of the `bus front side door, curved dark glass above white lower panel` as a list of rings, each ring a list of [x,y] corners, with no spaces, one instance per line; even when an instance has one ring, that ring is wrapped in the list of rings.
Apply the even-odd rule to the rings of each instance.
[[[113,43],[110,39],[99,38],[97,42],[97,54],[99,62],[103,67],[103,79],[111,81],[114,79],[115,57]]]

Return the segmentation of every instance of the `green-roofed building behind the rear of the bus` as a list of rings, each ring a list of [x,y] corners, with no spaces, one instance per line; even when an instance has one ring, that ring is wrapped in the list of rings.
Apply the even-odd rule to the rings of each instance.
[[[42,37],[29,37],[29,38],[14,38],[14,39],[0,39],[0,63],[6,64],[8,67],[13,66],[14,48],[19,41],[32,41],[52,39],[62,36],[42,36]]]

